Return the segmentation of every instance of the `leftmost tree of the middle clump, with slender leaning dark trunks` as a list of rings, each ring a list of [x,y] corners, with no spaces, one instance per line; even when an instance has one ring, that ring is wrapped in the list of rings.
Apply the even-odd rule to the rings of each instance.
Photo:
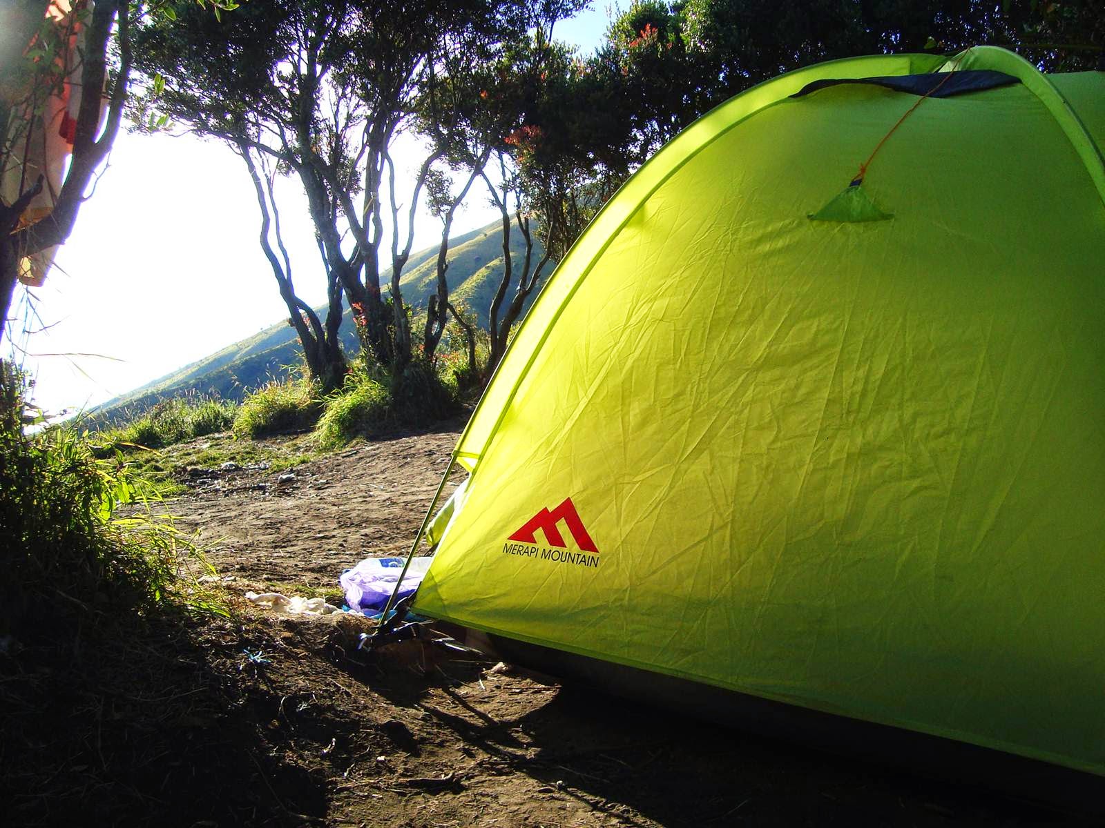
[[[295,328],[311,376],[324,390],[340,385],[346,372],[339,329],[344,310],[341,270],[350,256],[340,251],[337,194],[304,162],[302,148],[338,162],[360,117],[348,96],[329,96],[324,79],[340,60],[330,45],[345,24],[340,3],[248,3],[214,20],[191,7],[173,21],[150,20],[134,36],[136,68],[146,89],[135,99],[136,119],[166,118],[200,136],[227,144],[243,161],[257,199],[259,242]],[[308,197],[327,286],[326,317],[296,293],[293,263],[281,233],[274,179],[297,174]],[[275,242],[275,248],[273,246]],[[278,254],[277,254],[278,251]]]

